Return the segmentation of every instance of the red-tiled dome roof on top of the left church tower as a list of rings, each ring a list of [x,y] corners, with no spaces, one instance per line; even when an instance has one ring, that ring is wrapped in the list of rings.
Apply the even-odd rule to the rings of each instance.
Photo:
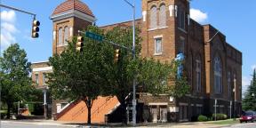
[[[57,6],[57,8],[52,13],[52,15],[56,15],[56,14],[59,14],[61,12],[67,12],[67,11],[70,11],[70,10],[71,11],[83,12],[83,13],[85,13],[87,15],[90,15],[93,18],[95,18],[91,9],[88,7],[88,5],[84,4],[80,0],[66,0],[64,3]]]

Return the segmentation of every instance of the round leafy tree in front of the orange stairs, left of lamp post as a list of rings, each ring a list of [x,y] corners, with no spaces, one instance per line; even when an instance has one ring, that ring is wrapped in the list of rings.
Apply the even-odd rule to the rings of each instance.
[[[97,27],[89,26],[88,31],[104,35]],[[91,124],[93,100],[100,96],[101,86],[109,84],[105,76],[110,74],[108,66],[113,63],[113,53],[108,44],[98,43],[84,36],[82,52],[76,51],[76,38],[68,43],[64,52],[51,57],[53,72],[49,74],[49,87],[55,99],[83,100],[88,109],[87,123]]]

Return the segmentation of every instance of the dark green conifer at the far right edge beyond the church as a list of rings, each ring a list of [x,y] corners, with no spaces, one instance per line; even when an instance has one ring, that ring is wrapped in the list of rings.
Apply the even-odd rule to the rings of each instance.
[[[254,69],[251,84],[244,93],[242,107],[244,110],[256,110],[256,70]]]

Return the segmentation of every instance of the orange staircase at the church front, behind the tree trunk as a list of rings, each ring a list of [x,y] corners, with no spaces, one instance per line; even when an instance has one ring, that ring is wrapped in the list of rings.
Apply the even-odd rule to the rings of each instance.
[[[92,104],[92,123],[104,124],[105,115],[114,111],[120,105],[116,97],[98,97]],[[58,121],[87,123],[87,107],[82,100],[77,100],[63,109],[56,117]]]

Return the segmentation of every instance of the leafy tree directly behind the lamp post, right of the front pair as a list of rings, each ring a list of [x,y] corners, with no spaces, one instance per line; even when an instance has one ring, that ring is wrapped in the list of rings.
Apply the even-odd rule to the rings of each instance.
[[[113,28],[106,32],[106,38],[116,44],[132,48],[132,28]],[[189,87],[186,77],[177,79],[177,62],[174,60],[160,62],[154,59],[140,57],[141,38],[140,30],[136,29],[136,54],[135,60],[132,53],[121,49],[119,61],[114,64],[113,74],[108,74],[111,80],[110,86],[102,89],[106,95],[116,96],[122,108],[123,123],[126,123],[126,98],[132,94],[132,80],[136,79],[136,87],[142,88],[143,92],[150,92],[154,95],[167,93],[175,97],[181,97],[188,93]],[[104,86],[103,86],[104,87]]]

